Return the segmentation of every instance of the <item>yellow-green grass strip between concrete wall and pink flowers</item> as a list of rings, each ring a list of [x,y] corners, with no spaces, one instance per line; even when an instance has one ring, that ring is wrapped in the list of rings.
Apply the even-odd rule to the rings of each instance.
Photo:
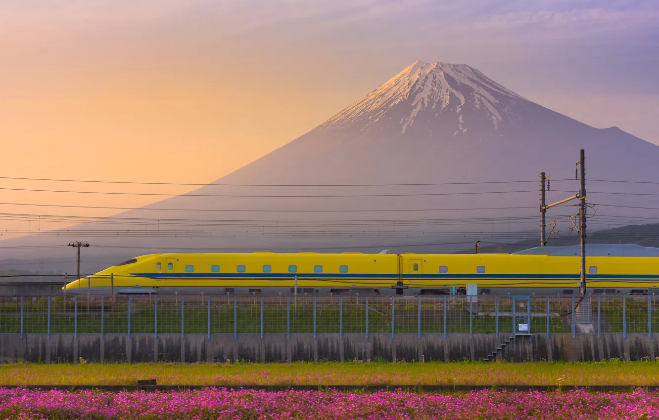
[[[2,385],[659,384],[659,362],[599,363],[79,363],[0,365]]]

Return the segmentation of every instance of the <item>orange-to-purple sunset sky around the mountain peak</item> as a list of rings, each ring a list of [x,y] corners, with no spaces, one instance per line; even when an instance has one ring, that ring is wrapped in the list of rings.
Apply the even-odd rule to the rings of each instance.
[[[417,59],[467,63],[540,105],[659,144],[658,19],[649,0],[5,0],[0,176],[211,182]],[[72,189],[2,179],[0,187]],[[155,201],[0,194],[1,203]],[[14,227],[28,226],[0,220],[0,229]]]

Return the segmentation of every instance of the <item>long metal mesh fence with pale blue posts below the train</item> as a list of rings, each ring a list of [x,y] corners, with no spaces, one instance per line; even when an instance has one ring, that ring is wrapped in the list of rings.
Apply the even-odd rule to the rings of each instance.
[[[576,309],[575,309],[576,308]],[[659,330],[654,296],[0,296],[0,334],[628,334]]]

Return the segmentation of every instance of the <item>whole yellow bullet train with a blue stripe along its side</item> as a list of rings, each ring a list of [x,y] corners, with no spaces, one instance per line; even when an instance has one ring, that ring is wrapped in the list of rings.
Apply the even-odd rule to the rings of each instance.
[[[63,292],[94,296],[576,295],[579,255],[579,246],[538,247],[511,254],[161,253],[135,257],[74,280]],[[592,244],[587,247],[586,261],[588,294],[653,294],[659,286],[659,248]]]

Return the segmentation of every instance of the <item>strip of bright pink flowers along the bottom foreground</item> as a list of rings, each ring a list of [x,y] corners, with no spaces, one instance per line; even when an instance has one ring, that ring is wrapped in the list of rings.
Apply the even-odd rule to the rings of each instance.
[[[459,394],[206,388],[183,392],[0,388],[2,419],[659,419],[659,392]]]

